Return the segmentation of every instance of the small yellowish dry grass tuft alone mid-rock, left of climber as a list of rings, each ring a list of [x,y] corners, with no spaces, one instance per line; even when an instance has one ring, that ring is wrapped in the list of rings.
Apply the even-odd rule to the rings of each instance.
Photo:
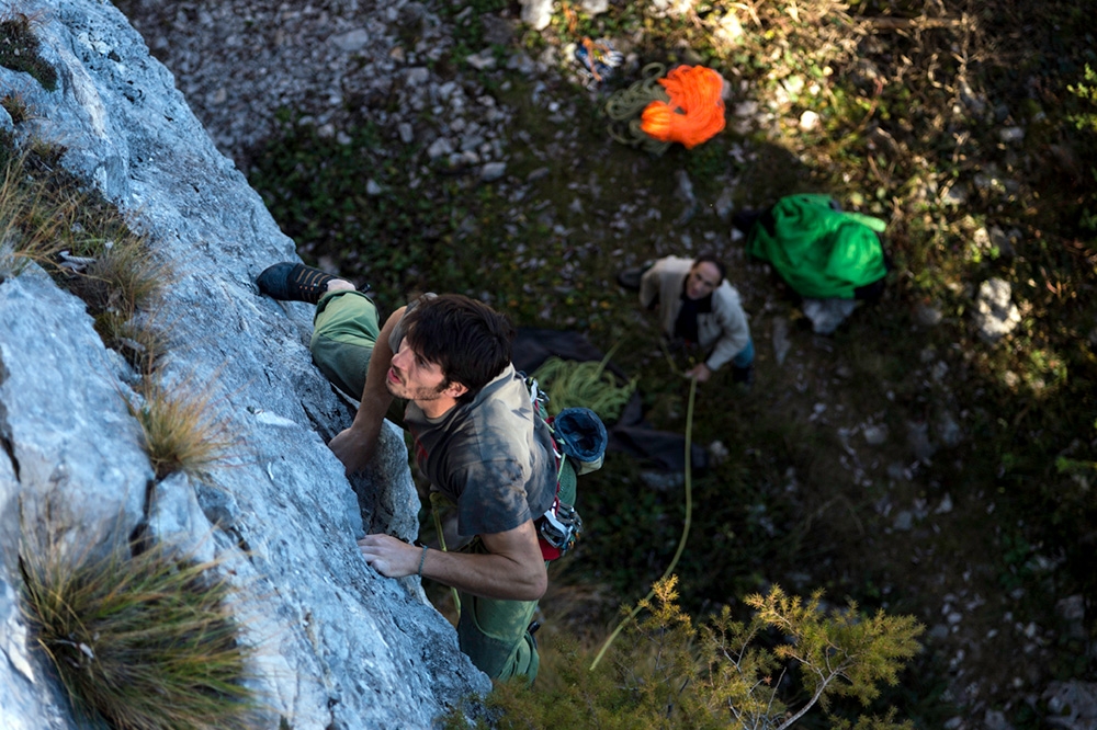
[[[208,479],[211,468],[228,460],[234,441],[213,412],[208,392],[186,384],[169,389],[146,376],[140,392],[126,404],[140,424],[157,479],[177,471]]]

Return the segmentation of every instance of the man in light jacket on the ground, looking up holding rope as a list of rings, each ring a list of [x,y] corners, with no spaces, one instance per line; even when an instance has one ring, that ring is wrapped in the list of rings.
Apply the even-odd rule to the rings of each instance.
[[[700,347],[704,360],[686,372],[705,383],[725,363],[732,381],[754,383],[754,342],[739,293],[727,282],[724,263],[710,253],[695,259],[667,256],[618,274],[618,282],[640,289],[640,304],[659,307],[668,338]]]

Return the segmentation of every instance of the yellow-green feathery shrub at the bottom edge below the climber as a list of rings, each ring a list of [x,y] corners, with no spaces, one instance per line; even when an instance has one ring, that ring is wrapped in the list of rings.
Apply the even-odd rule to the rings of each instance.
[[[819,593],[804,603],[778,588],[747,598],[754,609],[747,624],[725,607],[694,626],[677,604],[672,577],[655,585],[654,596],[611,654],[611,669],[589,671],[589,657],[567,645],[536,692],[520,682],[497,685],[489,706],[502,711],[498,727],[783,729],[816,705],[827,711],[838,696],[868,705],[878,685],[898,682],[923,630],[911,617],[869,617],[855,604],[825,611]],[[791,700],[789,685],[799,687]],[[913,727],[893,715],[864,716],[856,727]],[[448,722],[466,727],[460,712]]]

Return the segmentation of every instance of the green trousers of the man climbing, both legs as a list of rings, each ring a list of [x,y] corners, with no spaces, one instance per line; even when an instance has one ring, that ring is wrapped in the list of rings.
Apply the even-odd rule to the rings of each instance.
[[[339,389],[361,398],[373,345],[381,334],[377,308],[361,292],[332,292],[320,297],[313,319],[313,361]],[[575,504],[575,470],[561,474],[559,499]],[[470,551],[483,550],[474,540]],[[461,593],[457,639],[461,651],[493,678],[538,675],[540,658],[529,632],[536,601],[501,601]]]

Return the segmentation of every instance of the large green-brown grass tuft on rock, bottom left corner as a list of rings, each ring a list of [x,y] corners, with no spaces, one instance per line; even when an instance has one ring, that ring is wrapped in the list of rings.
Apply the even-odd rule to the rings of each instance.
[[[250,727],[252,650],[216,563],[163,546],[73,555],[50,540],[24,543],[19,564],[34,637],[78,711],[134,730]]]

